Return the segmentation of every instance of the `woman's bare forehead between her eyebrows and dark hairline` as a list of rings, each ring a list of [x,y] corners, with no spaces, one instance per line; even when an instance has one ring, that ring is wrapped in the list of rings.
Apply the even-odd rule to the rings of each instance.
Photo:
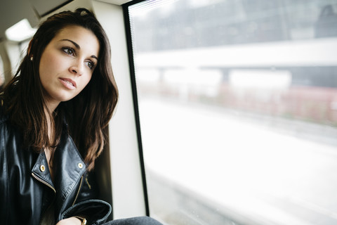
[[[91,30],[81,26],[70,25],[64,27],[52,39],[54,42],[60,42],[64,40],[76,42],[79,45],[81,51],[88,51],[88,53],[95,56],[98,56],[100,51],[100,43],[95,34]]]

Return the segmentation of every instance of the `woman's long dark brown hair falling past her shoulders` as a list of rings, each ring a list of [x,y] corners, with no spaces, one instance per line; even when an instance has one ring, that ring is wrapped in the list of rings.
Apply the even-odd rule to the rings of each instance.
[[[98,38],[98,65],[93,71],[91,81],[80,94],[70,101],[61,102],[54,112],[48,112],[55,129],[55,138],[49,141],[45,113],[46,97],[39,78],[39,63],[48,43],[62,28],[69,25],[79,25],[91,30]],[[103,27],[85,8],[52,15],[40,25],[29,43],[27,55],[23,58],[18,72],[8,82],[1,95],[6,115],[11,123],[20,127],[23,132],[25,146],[31,146],[37,152],[44,148],[55,148],[60,141],[63,120],[66,119],[72,139],[84,157],[88,170],[93,169],[95,159],[103,150],[103,129],[110,121],[118,99],[110,51]]]

